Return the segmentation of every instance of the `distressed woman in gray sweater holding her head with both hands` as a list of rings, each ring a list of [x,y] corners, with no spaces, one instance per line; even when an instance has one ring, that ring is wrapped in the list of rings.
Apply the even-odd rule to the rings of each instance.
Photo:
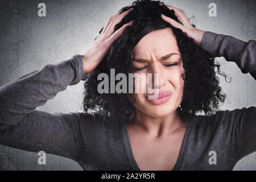
[[[183,11],[159,1],[134,2],[83,55],[0,88],[0,143],[71,158],[85,170],[232,170],[256,151],[256,109],[217,111],[225,95],[216,72],[225,74],[210,57],[235,61],[256,79],[255,45],[198,30]],[[158,98],[98,93],[98,75],[111,68],[158,73]],[[87,77],[84,113],[35,110]]]

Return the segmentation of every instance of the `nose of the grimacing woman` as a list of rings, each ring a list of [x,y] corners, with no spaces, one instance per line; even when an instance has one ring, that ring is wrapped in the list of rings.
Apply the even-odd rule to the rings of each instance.
[[[162,69],[162,66],[159,63],[152,63],[150,66],[150,69],[148,70],[148,73],[152,73],[152,89],[155,88],[162,88],[162,86],[166,85],[167,83],[167,77],[166,73]],[[158,81],[155,82],[155,73],[158,73]]]

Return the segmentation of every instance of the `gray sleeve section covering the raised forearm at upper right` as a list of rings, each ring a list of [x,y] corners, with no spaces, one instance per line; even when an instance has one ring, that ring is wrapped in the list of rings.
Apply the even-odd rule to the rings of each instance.
[[[224,56],[234,61],[242,73],[250,73],[256,80],[256,41],[243,42],[233,36],[204,32],[201,48],[212,57]]]

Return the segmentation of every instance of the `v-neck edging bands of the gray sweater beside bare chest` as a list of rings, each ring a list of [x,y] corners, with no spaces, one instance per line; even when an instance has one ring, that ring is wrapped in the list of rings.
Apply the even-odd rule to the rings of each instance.
[[[177,159],[177,162],[174,166],[174,168],[172,169],[172,171],[176,171],[179,170],[180,165],[181,165],[181,161],[183,160],[183,156],[186,154],[186,149],[189,146],[189,142],[190,142],[190,138],[189,136],[191,136],[191,130],[193,127],[193,119],[196,117],[193,116],[190,121],[188,122],[187,128],[185,130],[185,134],[181,143],[181,148],[180,148],[180,152],[179,152],[179,156]],[[125,151],[126,151],[126,156],[127,159],[129,161],[130,167],[132,171],[141,171],[141,169],[138,167],[138,164],[134,158],[133,155],[133,150],[131,148],[131,143],[130,143],[130,138],[129,138],[129,134],[128,134],[128,129],[127,129],[127,122],[123,121],[122,122],[122,137],[123,137],[123,144],[125,146]]]

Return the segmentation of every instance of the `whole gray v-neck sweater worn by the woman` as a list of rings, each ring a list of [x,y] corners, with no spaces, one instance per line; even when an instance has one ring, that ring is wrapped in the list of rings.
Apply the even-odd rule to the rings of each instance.
[[[242,73],[256,80],[255,40],[246,43],[207,31],[201,48],[212,57],[234,61]],[[81,55],[75,55],[1,86],[0,144],[64,156],[84,170],[140,170],[126,122],[98,121],[93,114],[79,112],[35,110],[67,86],[85,80],[82,64]],[[254,151],[256,107],[196,115],[189,121],[174,170],[232,170],[238,160]],[[209,163],[213,155],[216,164]]]

